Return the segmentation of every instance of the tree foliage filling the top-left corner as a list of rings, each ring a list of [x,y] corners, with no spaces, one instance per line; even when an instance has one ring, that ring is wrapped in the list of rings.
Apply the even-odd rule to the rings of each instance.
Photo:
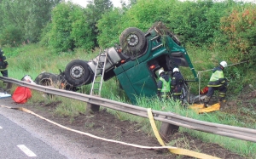
[[[51,9],[61,0],[2,0],[0,2],[0,37],[2,42],[7,42],[3,31],[15,27],[19,33],[12,35],[10,42],[25,41],[38,42],[42,29],[50,20]],[[20,37],[17,37],[17,36]],[[6,43],[2,43],[6,44]],[[13,43],[9,43],[13,44]]]

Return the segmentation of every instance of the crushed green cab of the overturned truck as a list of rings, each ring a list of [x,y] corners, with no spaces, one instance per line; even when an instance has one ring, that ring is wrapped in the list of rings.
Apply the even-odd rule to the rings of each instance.
[[[195,80],[197,79],[189,55],[185,48],[180,46],[177,37],[174,37],[172,32],[167,32],[165,26],[157,25],[159,26],[153,26],[145,33],[147,43],[145,51],[135,54],[131,60],[113,70],[131,101],[135,100],[135,96],[151,97],[156,94],[157,71],[160,68],[172,72],[174,67],[190,67]],[[135,34],[137,31],[131,32]]]

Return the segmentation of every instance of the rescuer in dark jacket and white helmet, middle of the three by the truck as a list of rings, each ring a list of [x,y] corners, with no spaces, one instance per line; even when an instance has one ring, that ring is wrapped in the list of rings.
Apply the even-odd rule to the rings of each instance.
[[[174,100],[180,99],[182,95],[182,90],[184,87],[184,80],[182,74],[179,72],[178,68],[173,69],[172,75],[172,97]]]

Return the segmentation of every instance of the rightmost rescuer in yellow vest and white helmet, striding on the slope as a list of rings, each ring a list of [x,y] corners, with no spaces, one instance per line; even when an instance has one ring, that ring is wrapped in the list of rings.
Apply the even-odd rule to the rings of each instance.
[[[212,71],[212,76],[210,78],[210,82],[208,82],[207,87],[208,92],[206,98],[204,99],[204,106],[208,107],[208,103],[212,98],[215,90],[218,90],[218,101],[223,102],[227,92],[228,80],[224,77],[224,68],[227,66],[226,61],[222,61],[219,63],[219,66],[215,67]]]

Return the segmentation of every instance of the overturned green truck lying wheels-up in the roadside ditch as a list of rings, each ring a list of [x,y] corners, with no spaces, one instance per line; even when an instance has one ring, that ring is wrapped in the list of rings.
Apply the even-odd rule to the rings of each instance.
[[[105,65],[97,65],[104,54],[108,57]],[[80,86],[93,82],[96,75],[102,74],[97,67],[104,67],[104,81],[117,77],[125,94],[134,102],[136,96],[151,97],[156,94],[160,68],[172,72],[174,67],[179,66],[189,67],[195,77],[192,81],[197,81],[186,49],[166,26],[158,22],[145,33],[129,27],[119,37],[119,45],[105,49],[89,61],[73,60],[67,64],[65,71],[60,70],[59,75],[41,73],[35,82],[40,85],[55,82],[60,88],[76,91]]]

